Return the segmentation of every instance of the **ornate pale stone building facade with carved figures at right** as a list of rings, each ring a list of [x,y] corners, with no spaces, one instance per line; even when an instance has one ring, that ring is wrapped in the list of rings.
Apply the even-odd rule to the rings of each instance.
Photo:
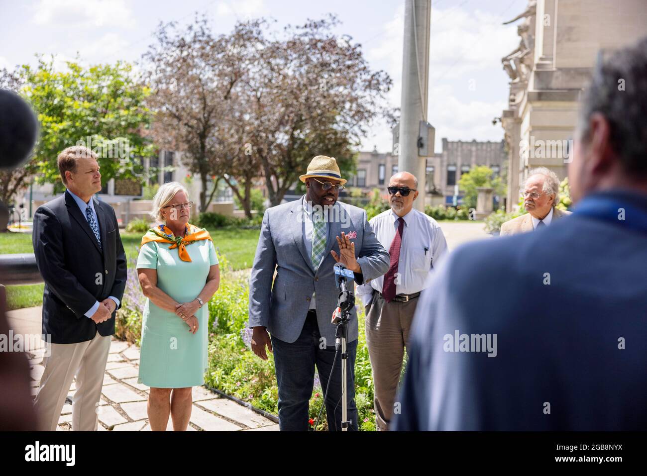
[[[518,203],[529,169],[567,175],[578,100],[598,55],[647,34],[645,0],[530,0],[520,21],[519,46],[503,58],[510,76],[501,115],[508,148],[507,210]]]

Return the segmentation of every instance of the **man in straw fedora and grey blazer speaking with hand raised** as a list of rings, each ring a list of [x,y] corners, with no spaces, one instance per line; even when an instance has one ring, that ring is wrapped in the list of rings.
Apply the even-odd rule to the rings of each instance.
[[[328,428],[341,429],[341,359],[335,360],[331,316],[337,306],[333,267],[353,271],[355,283],[374,279],[389,269],[389,254],[377,241],[361,208],[338,202],[344,189],[332,157],[313,158],[301,175],[306,193],[294,202],[265,211],[250,276],[249,323],[252,350],[267,360],[274,354],[278,384],[279,426],[307,431],[314,370],[318,371]],[[276,277],[272,277],[276,268]],[[349,280],[353,289],[353,280]],[[271,337],[270,337],[271,336]],[[357,316],[351,308],[348,325],[347,401],[349,429],[356,430],[355,355]],[[333,365],[334,363],[334,365]]]

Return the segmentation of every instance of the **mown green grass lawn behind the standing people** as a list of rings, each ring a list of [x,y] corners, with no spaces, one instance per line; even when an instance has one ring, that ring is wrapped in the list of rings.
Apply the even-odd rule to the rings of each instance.
[[[227,258],[234,270],[251,268],[256,252],[260,230],[241,230],[239,228],[219,228],[209,230],[217,250]],[[128,265],[133,266],[137,259],[137,249],[142,241],[141,233],[121,233],[122,243]],[[0,254],[32,253],[30,233],[0,233]],[[43,302],[43,283],[37,285],[7,286],[7,308],[39,306]]]

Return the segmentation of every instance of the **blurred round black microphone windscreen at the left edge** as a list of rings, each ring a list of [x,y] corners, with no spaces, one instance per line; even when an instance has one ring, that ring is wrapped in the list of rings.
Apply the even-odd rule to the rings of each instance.
[[[19,168],[32,155],[38,119],[15,92],[0,90],[0,169]]]

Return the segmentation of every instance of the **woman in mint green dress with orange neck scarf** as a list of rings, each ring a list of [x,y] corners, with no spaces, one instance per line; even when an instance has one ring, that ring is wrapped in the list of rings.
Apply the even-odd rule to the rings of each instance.
[[[209,299],[220,274],[214,243],[204,229],[189,224],[192,202],[178,182],[159,188],[153,213],[164,222],[142,238],[137,274],[146,299],[138,382],[151,387],[151,430],[175,431],[191,418],[192,387],[204,384]]]

